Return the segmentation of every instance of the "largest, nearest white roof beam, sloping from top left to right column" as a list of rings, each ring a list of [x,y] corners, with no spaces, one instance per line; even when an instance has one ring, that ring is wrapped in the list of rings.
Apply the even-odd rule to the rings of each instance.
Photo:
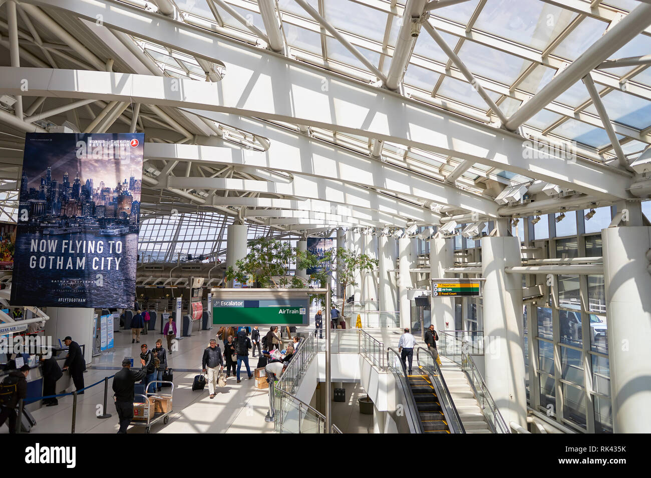
[[[96,5],[72,0],[49,0],[47,3],[43,0],[24,1],[67,8],[69,12],[84,18],[94,19],[97,12]],[[581,157],[575,163],[555,157],[546,158],[546,161],[539,161],[539,158],[530,161],[525,150],[531,146],[518,135],[509,135],[419,101],[400,98],[387,90],[279,57],[124,3],[104,0],[104,5],[107,6],[103,10],[105,25],[147,36],[159,44],[208,59],[214,59],[216,52],[219,52],[219,59],[227,65],[229,74],[220,82],[220,89],[216,93],[204,95],[203,99],[217,98],[219,95],[226,101],[230,99],[229,106],[223,107],[224,111],[232,105],[230,111],[237,114],[401,142],[406,146],[471,159],[519,174],[534,174],[537,179],[572,185],[575,190],[587,194],[608,198],[628,197],[626,187],[630,181],[626,176],[614,173],[613,168],[603,168]],[[143,21],[150,27],[143,28]],[[261,75],[262,72],[264,74]],[[269,78],[277,79],[273,87]],[[320,90],[322,81],[329,85],[327,92]],[[286,88],[286,98],[277,92],[282,87]],[[187,90],[183,92],[188,93]],[[83,98],[77,96],[80,97]],[[355,98],[356,101],[348,98]],[[335,105],[334,109],[331,105]],[[206,105],[197,107],[206,109]]]

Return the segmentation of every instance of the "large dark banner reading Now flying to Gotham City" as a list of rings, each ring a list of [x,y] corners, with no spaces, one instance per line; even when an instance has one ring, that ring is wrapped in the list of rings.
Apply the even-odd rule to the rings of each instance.
[[[143,133],[27,133],[11,303],[130,308]]]

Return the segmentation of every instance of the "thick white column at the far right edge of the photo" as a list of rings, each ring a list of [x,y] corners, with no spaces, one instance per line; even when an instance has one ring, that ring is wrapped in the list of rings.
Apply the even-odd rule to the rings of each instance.
[[[615,433],[651,429],[651,228],[602,230]]]

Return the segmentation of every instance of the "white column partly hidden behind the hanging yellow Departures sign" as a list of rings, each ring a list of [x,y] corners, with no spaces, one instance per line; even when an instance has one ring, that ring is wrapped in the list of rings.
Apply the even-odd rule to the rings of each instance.
[[[454,277],[446,274],[447,267],[454,267],[454,238],[430,239],[430,278]],[[431,297],[432,323],[436,330],[454,330],[454,297]]]

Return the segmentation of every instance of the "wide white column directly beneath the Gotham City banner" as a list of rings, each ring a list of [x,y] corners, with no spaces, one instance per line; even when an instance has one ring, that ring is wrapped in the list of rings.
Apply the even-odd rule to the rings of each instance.
[[[49,320],[45,323],[44,333],[51,337],[54,345],[63,343],[66,336],[70,336],[79,344],[85,345],[83,358],[86,365],[92,363],[92,329],[95,325],[94,309],[48,307]]]

